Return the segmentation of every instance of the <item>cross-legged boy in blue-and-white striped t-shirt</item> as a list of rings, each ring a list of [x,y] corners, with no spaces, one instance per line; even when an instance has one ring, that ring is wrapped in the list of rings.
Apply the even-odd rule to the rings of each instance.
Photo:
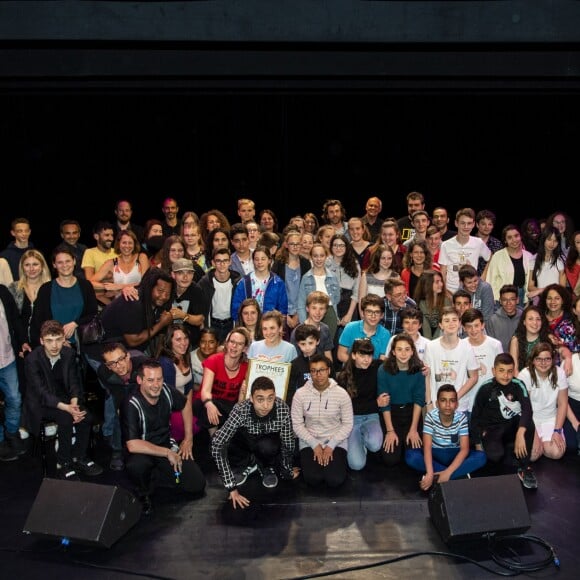
[[[465,413],[457,410],[459,400],[453,385],[437,390],[437,407],[431,409],[423,423],[423,450],[407,449],[409,467],[425,475],[419,487],[427,491],[434,483],[472,473],[485,465],[483,451],[469,450],[469,429]]]

